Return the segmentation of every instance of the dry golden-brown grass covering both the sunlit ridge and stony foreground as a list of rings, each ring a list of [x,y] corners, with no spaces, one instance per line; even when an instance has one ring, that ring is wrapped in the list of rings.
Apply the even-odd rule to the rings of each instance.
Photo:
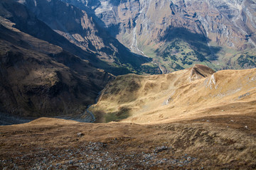
[[[201,65],[117,77],[91,110],[128,118],[1,126],[0,169],[256,169],[255,80],[255,69]]]

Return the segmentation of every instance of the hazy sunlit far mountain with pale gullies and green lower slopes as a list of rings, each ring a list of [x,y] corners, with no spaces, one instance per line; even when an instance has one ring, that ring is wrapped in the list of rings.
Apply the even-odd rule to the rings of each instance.
[[[255,1],[63,1],[94,13],[100,26],[132,52],[151,57],[162,72],[196,63],[255,67]]]

